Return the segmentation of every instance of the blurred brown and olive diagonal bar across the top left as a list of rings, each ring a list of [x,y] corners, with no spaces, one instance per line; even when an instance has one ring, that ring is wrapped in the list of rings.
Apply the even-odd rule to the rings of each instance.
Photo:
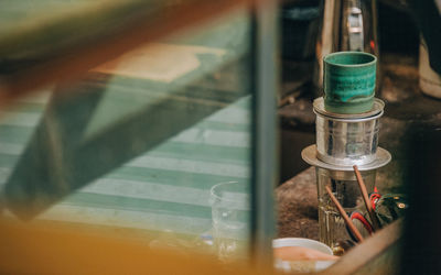
[[[0,32],[0,106],[54,81],[76,79],[139,45],[197,29],[256,2],[267,0],[86,1],[60,14],[45,12],[7,25]]]

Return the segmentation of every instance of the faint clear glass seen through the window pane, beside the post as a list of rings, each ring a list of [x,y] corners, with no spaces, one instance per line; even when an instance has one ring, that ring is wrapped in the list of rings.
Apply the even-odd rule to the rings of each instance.
[[[247,184],[220,183],[211,189],[213,239],[218,258],[232,262],[247,256],[250,200]]]

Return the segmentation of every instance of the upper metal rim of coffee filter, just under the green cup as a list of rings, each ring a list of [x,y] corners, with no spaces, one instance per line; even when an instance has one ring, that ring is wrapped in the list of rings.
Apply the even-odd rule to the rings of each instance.
[[[358,122],[358,121],[374,120],[380,118],[384,113],[385,102],[381,99],[374,98],[373,109],[368,112],[362,112],[362,113],[335,113],[326,111],[324,109],[323,97],[316,98],[314,100],[313,107],[314,107],[314,113],[318,116],[343,122]]]

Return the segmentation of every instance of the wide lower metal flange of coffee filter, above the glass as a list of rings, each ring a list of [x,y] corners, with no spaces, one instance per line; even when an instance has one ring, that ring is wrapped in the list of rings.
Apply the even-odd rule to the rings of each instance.
[[[318,166],[321,168],[330,169],[330,170],[353,170],[352,165],[335,165],[335,164],[329,164],[320,161],[316,157],[316,146],[315,144],[310,145],[302,151],[302,158],[308,164],[312,166]],[[391,160],[391,155],[387,150],[384,150],[381,147],[377,148],[377,154],[376,158],[374,162],[364,164],[364,165],[358,165],[359,170],[372,170],[372,169],[378,169],[386,164],[388,164]]]

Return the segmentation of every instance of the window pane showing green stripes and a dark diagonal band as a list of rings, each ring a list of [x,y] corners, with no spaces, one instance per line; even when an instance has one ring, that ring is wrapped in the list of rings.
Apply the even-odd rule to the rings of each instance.
[[[0,110],[4,216],[244,256],[250,33],[235,10]]]

